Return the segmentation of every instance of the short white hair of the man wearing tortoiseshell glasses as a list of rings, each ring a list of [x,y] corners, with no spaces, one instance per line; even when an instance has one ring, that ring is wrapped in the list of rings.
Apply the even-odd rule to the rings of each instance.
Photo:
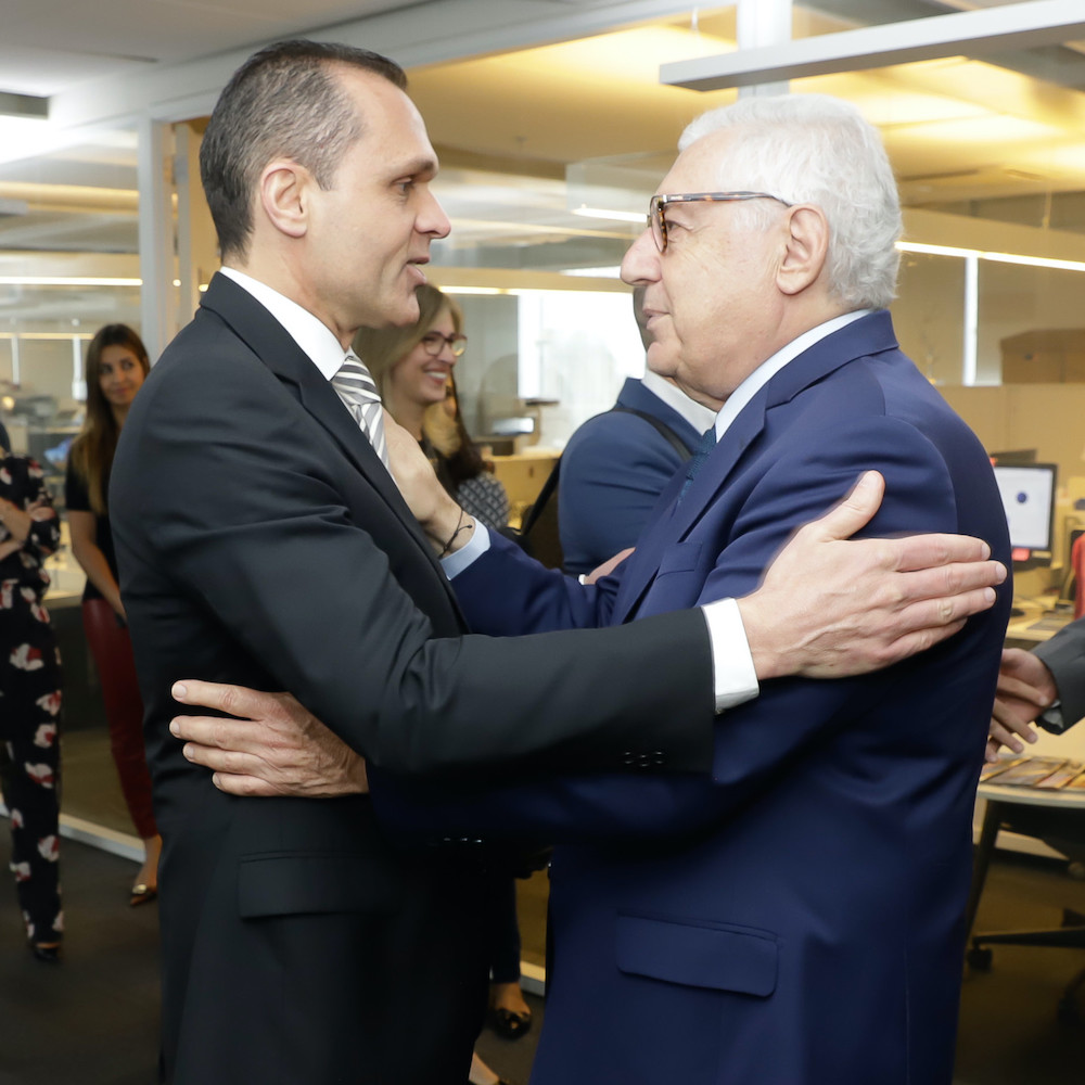
[[[826,94],[742,98],[701,114],[678,150],[728,129],[726,182],[820,207],[829,222],[829,291],[848,308],[883,308],[896,294],[901,203],[877,129]],[[744,206],[748,214],[765,207]]]

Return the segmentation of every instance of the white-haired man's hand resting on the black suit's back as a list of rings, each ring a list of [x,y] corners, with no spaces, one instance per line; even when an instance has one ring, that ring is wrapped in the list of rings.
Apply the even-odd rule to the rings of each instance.
[[[175,716],[169,724],[184,740],[184,756],[212,769],[220,791],[302,799],[369,791],[365,758],[290,693],[196,679],[176,682],[171,692],[181,704],[229,713]]]

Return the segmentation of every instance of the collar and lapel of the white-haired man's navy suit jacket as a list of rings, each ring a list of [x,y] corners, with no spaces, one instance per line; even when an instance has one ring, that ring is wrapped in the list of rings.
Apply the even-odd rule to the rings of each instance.
[[[716,442],[707,460],[694,476],[681,501],[675,503],[686,472],[679,472],[665,492],[668,510],[638,539],[637,549],[623,572],[622,588],[614,608],[614,622],[626,622],[660,571],[667,548],[685,539],[711,508],[727,481],[742,462],[746,449],[765,429],[767,412],[846,366],[856,358],[897,349],[893,324],[885,311],[870,314],[819,340],[792,359],[739,412],[724,436]],[[662,508],[662,499],[661,499]]]

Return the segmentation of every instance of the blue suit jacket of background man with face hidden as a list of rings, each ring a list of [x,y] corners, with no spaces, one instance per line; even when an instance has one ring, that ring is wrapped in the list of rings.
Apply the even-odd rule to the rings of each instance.
[[[651,414],[697,451],[701,434],[640,381],[626,380],[616,406]],[[579,426],[562,452],[558,488],[566,572],[590,573],[633,546],[681,462],[671,442],[636,414],[605,411]]]

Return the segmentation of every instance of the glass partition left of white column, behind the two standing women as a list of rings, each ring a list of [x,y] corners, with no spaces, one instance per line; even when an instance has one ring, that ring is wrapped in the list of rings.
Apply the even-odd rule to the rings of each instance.
[[[9,131],[0,118],[0,420],[13,450],[43,468],[63,515],[68,449],[87,398],[87,343],[105,323],[140,328],[136,136],[42,139],[34,153],[33,125]],[[85,577],[62,526],[61,550],[47,566],[64,664],[62,808],[69,828],[92,824],[126,851],[116,834],[131,825],[82,633]]]

